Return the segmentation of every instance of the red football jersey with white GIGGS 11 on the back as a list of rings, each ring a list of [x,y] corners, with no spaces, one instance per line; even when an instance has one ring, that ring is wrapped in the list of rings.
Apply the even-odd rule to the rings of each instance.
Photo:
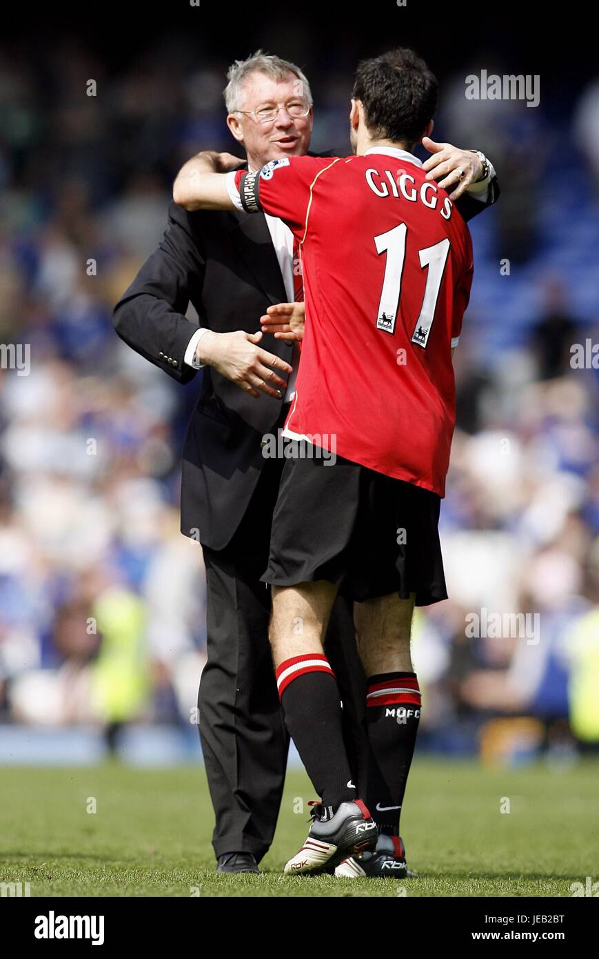
[[[410,155],[289,157],[235,183],[299,241],[306,328],[284,435],[444,496],[472,240]]]

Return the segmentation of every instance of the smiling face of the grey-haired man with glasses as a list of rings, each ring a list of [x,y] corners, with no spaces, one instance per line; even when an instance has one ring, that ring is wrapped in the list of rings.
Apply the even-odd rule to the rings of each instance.
[[[308,99],[303,83],[292,73],[284,81],[275,81],[258,71],[251,73],[243,83],[243,110],[260,110],[267,107],[290,106]],[[274,120],[257,123],[249,113],[229,113],[227,126],[236,140],[245,148],[251,167],[262,169],[269,160],[282,156],[302,156],[308,152],[312,130],[312,110],[305,117],[290,117],[287,109],[281,108]]]

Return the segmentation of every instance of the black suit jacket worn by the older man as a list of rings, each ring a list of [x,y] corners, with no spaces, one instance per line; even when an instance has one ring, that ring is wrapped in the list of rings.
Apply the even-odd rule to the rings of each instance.
[[[465,220],[487,203],[465,196]],[[274,303],[287,301],[264,214],[201,210],[171,203],[169,223],[150,259],[114,310],[114,326],[129,346],[180,383],[196,370],[184,363],[196,329],[185,318],[189,302],[202,326],[218,333],[255,333]],[[262,346],[289,362],[291,344],[265,335]],[[204,367],[196,409],[186,433],[181,480],[181,531],[213,550],[223,549],[240,525],[265,463],[261,441],[274,433],[282,400],[255,399]]]

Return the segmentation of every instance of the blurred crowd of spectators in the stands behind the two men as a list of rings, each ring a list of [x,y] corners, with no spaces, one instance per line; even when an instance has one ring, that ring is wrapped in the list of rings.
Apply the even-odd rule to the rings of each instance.
[[[198,65],[194,45],[169,36],[120,70],[77,44],[35,64],[7,46],[2,59],[0,343],[29,344],[30,363],[0,368],[0,721],[92,722],[108,733],[129,721],[188,723],[205,660],[204,581],[198,544],[179,533],[178,494],[199,377],[178,386],[138,357],[111,311],[160,239],[180,163],[232,149],[228,64],[204,55]],[[351,66],[306,69],[312,149],[346,152]],[[599,285],[581,250],[573,292],[545,231],[565,129],[580,143],[568,163],[586,237],[599,237],[589,149],[599,87],[582,91],[571,123],[542,103],[466,101],[463,78],[444,82],[436,133],[481,146],[502,197],[472,227],[442,507],[450,599],[419,610],[414,628],[420,737],[490,759],[592,750],[599,372],[575,368],[571,346],[599,342]],[[500,258],[512,275],[525,271],[518,323],[496,295]],[[501,278],[506,291],[512,275]]]

